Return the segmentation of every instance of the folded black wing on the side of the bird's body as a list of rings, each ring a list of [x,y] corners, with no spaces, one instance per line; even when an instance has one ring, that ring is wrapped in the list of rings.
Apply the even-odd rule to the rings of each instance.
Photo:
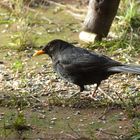
[[[75,47],[65,49],[59,56],[58,61],[65,71],[73,74],[106,70],[108,67],[121,65],[107,56]]]

